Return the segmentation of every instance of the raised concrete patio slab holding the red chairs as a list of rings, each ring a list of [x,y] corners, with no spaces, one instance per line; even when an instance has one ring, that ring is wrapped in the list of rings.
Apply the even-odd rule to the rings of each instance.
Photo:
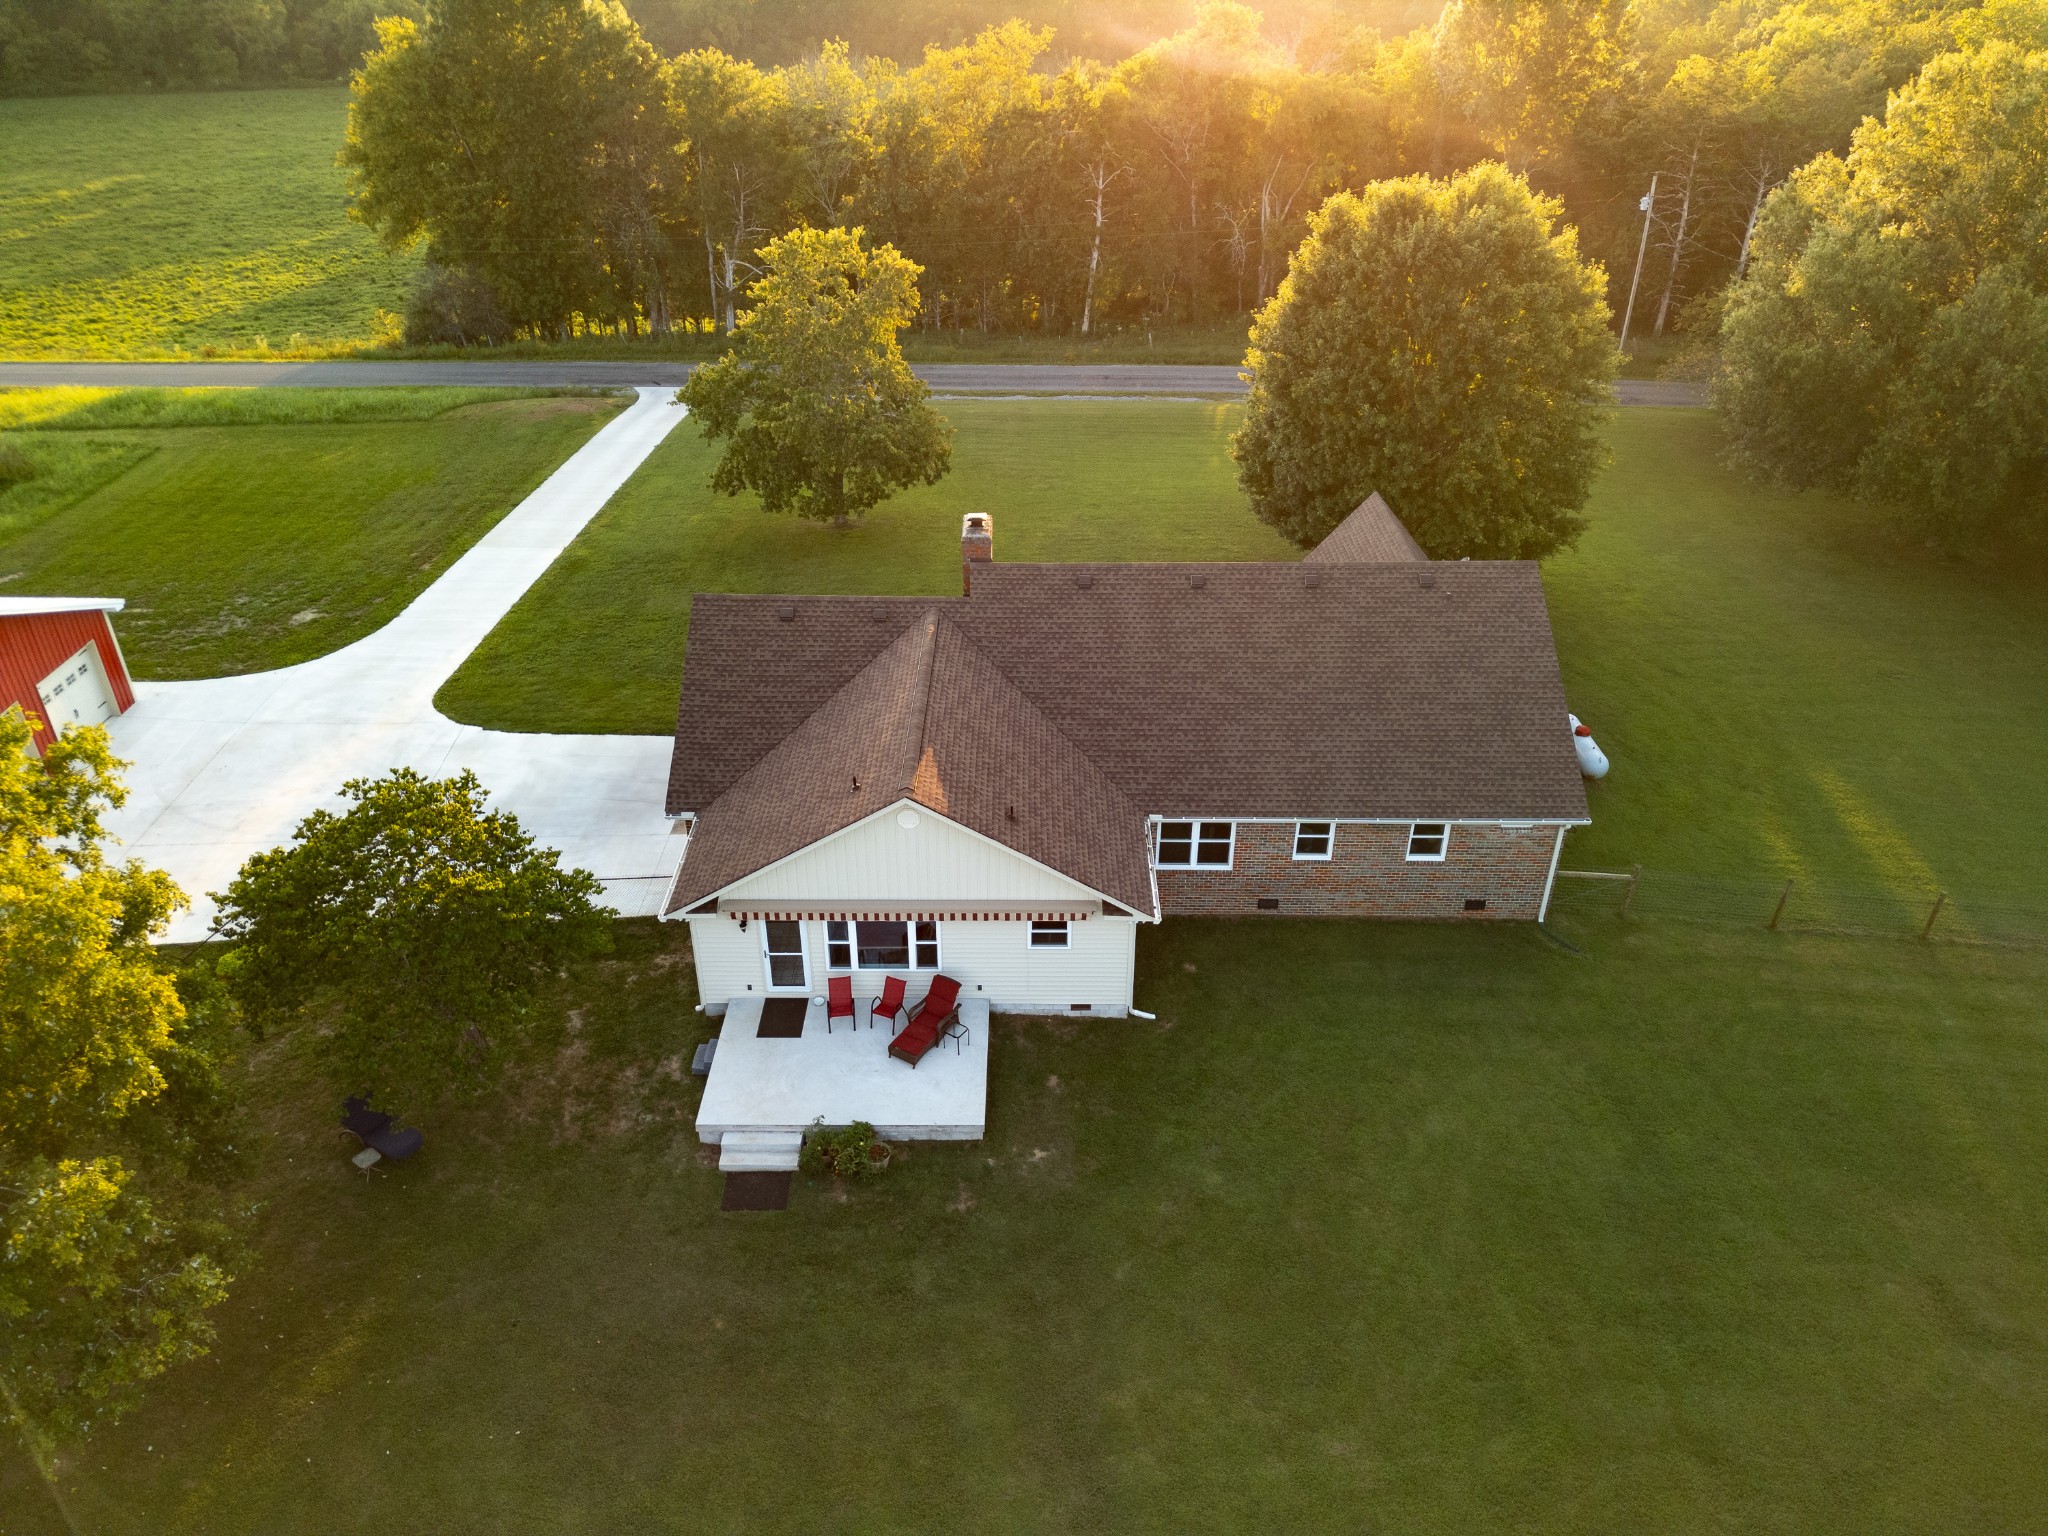
[[[866,1120],[887,1141],[979,1141],[989,1118],[989,1006],[961,999],[965,1040],[940,1040],[911,1067],[889,1055],[901,1020],[868,1026],[836,1020],[811,999],[801,1038],[760,1038],[762,997],[733,997],[711,1059],[696,1135],[723,1145],[727,1133],[791,1135]]]

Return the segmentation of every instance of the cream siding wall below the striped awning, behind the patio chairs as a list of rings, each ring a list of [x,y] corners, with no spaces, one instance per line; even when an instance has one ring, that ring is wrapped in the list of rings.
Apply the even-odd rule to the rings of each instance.
[[[690,948],[696,954],[696,987],[711,1012],[725,1012],[727,997],[766,991],[760,922],[745,932],[731,918],[690,918]],[[825,924],[803,926],[811,956],[811,991],[825,991]],[[991,1008],[1012,1014],[1067,1014],[1085,1004],[1092,1014],[1122,1014],[1130,1008],[1137,965],[1137,922],[1090,918],[1067,926],[1067,948],[1030,946],[1030,924],[942,922],[938,926],[938,967],[961,983],[961,995],[981,995]],[[874,997],[883,971],[854,971],[854,997]],[[909,975],[909,999],[924,995],[930,973]]]

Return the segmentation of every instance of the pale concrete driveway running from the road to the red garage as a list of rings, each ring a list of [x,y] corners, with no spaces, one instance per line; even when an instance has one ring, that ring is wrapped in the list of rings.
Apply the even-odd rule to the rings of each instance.
[[[682,856],[662,805],[668,737],[481,731],[440,715],[434,692],[684,418],[672,401],[674,389],[639,389],[375,635],[276,672],[135,684],[135,709],[109,725],[133,764],[109,829],[193,897],[170,942],[205,938],[205,893],[244,858],[338,807],[344,780],[391,768],[473,768],[496,809],[598,874],[621,913],[659,909]]]

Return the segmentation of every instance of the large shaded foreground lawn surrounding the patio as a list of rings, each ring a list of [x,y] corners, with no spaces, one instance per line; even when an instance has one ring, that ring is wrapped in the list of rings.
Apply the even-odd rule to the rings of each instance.
[[[2048,958],[1176,922],[997,1024],[989,1137],[725,1217],[676,930],[354,1174],[279,1047],[213,1358],[82,1530],[2015,1532]],[[0,1522],[55,1530],[18,1456]]]

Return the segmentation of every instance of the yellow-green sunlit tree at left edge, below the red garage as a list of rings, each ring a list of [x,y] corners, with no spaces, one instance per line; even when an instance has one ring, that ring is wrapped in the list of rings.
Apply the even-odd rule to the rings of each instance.
[[[150,942],[182,897],[102,850],[106,733],[29,741],[0,715],[0,1409],[47,1466],[213,1337],[231,1133],[219,1018]]]

